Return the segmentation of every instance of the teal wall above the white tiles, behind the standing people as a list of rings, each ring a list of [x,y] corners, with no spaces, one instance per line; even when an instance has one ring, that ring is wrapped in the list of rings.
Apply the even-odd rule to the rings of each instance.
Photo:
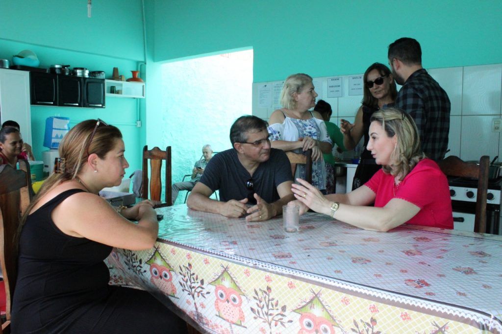
[[[362,73],[404,36],[427,68],[502,62],[499,0],[155,1],[155,61],[252,46],[254,81]]]

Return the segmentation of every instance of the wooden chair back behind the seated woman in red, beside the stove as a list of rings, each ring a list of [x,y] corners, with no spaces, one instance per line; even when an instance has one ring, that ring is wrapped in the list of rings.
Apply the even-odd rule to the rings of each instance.
[[[446,176],[477,179],[476,215],[474,232],[486,233],[486,197],[488,195],[488,170],[490,158],[483,155],[479,164],[465,162],[458,156],[450,155],[438,162]]]

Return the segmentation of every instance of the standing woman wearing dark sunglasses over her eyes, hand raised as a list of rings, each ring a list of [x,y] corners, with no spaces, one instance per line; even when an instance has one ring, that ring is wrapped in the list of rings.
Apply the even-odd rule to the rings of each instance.
[[[394,105],[398,95],[391,70],[384,64],[371,64],[364,72],[363,81],[362,105],[357,110],[354,123],[350,124],[344,119],[340,121],[340,131],[343,133],[346,149],[353,149],[364,135],[363,150],[355,171],[352,190],[365,184],[381,168],[366,149],[369,140],[369,119],[375,111]],[[350,189],[347,189],[347,192],[349,191]]]

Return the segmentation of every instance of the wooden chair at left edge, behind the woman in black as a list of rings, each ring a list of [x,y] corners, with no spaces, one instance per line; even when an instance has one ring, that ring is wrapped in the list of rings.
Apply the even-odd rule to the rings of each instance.
[[[30,181],[30,175],[25,171],[17,171],[8,164],[0,165],[0,263],[4,275],[7,319],[0,332],[10,332],[18,262],[19,240],[15,237],[21,215],[30,204]]]

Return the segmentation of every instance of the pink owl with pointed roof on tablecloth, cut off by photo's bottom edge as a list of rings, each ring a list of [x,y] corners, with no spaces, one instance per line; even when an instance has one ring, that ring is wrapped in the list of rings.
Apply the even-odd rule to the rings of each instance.
[[[335,334],[336,327],[339,328],[338,322],[321,301],[320,291],[318,293],[311,292],[314,294],[313,297],[294,310],[294,312],[300,313],[298,334]]]

